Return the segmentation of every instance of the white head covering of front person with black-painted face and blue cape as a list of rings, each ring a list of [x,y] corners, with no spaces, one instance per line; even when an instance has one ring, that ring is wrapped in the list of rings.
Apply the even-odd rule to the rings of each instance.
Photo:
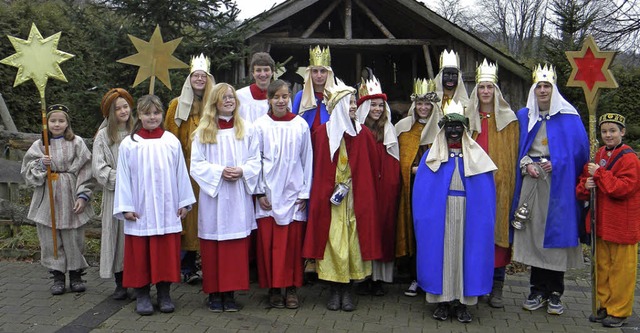
[[[462,156],[464,158],[464,176],[470,177],[481,173],[497,170],[489,155],[469,135],[469,131],[462,131]],[[433,172],[440,169],[442,163],[449,161],[449,144],[444,134],[444,126],[440,128],[425,163]]]

